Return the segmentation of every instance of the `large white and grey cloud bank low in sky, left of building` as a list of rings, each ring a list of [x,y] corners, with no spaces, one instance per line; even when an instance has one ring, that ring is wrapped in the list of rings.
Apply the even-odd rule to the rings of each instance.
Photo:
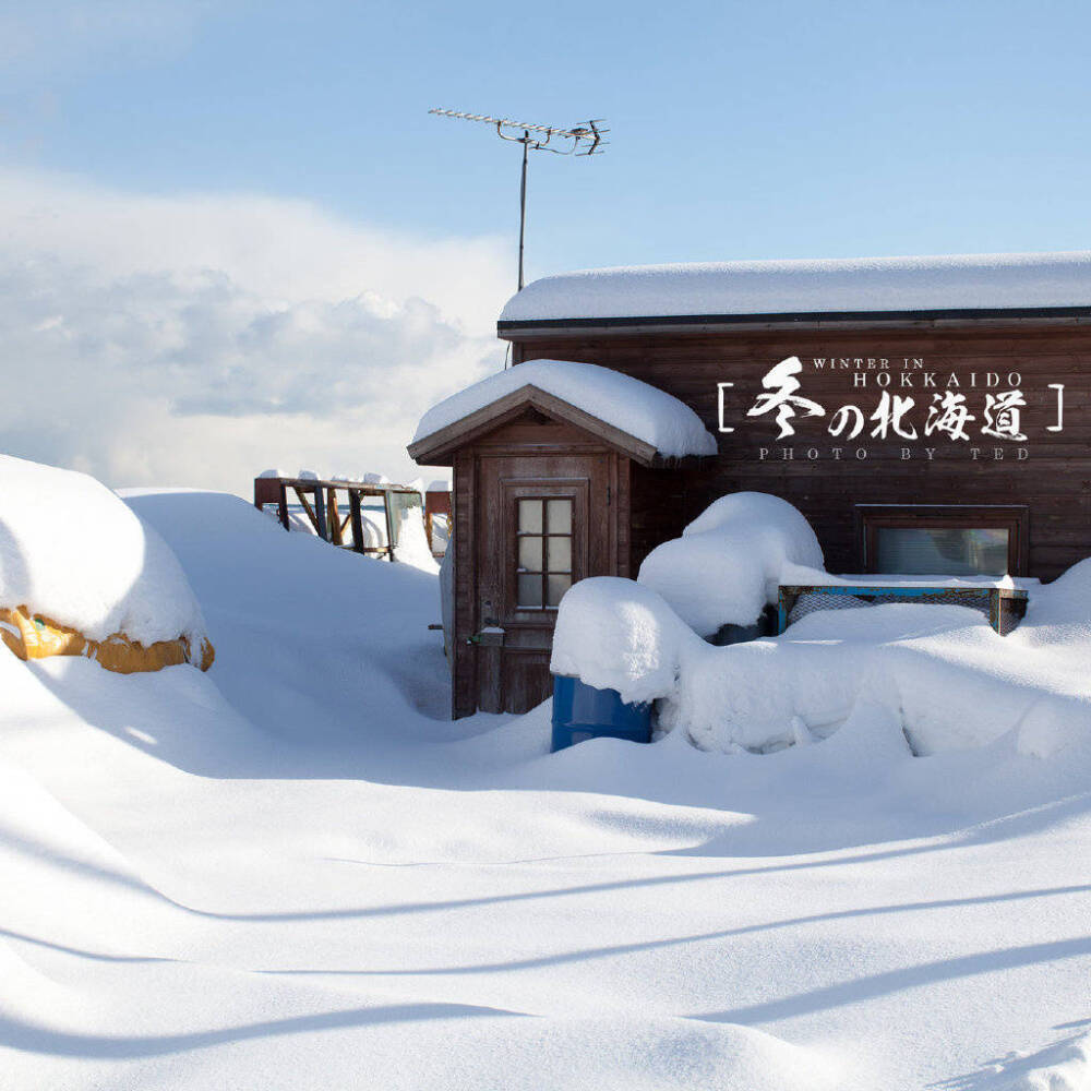
[[[0,172],[0,449],[242,494],[274,465],[416,475],[419,415],[502,363],[509,264],[303,202]]]

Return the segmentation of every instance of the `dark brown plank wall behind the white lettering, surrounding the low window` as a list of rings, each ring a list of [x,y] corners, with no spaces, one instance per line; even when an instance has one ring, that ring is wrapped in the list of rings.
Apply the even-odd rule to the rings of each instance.
[[[812,521],[831,571],[859,567],[853,524],[854,504],[1026,504],[1029,507],[1029,575],[1051,579],[1070,564],[1091,555],[1091,327],[1078,324],[979,323],[942,327],[876,326],[861,329],[768,328],[723,332],[595,334],[556,333],[516,340],[514,358],[563,359],[598,363],[658,386],[691,405],[710,432],[718,436],[720,454],[706,468],[675,472],[634,467],[632,490],[632,561],[634,572],[647,551],[675,536],[684,523],[719,495],[743,489],[783,496]],[[825,418],[793,421],[795,435],[778,440],[772,415],[746,418],[763,392],[763,376],[779,361],[798,356],[804,364],[800,395],[827,409]],[[855,369],[816,371],[815,358],[889,361],[891,394],[916,399],[912,421],[919,439],[868,436],[868,422],[855,440],[828,434],[830,415],[846,403],[865,413],[876,407],[882,388],[867,370],[867,385],[853,386]],[[931,372],[937,387],[902,387],[898,373],[902,360],[923,360],[910,374]],[[986,388],[970,387],[968,376],[1000,375],[998,389],[1007,389],[1009,372],[1022,376],[1027,400],[1022,431],[1027,441],[994,441],[978,434]],[[955,373],[962,383],[956,393],[967,395],[978,416],[970,442],[952,442],[935,433],[923,437],[922,424],[932,394],[945,389]],[[943,376],[940,382],[939,376]],[[922,380],[918,377],[918,382]],[[718,432],[717,383],[732,382],[726,424],[733,432]],[[1064,430],[1056,423],[1056,392],[1064,384]],[[793,448],[787,459],[781,448]],[[832,448],[842,447],[840,460]],[[762,447],[767,457],[759,457]],[[866,447],[867,457],[855,457]],[[902,457],[902,447],[912,452]],[[934,448],[927,460],[925,447]],[[970,448],[979,448],[974,460]],[[1018,460],[1018,448],[1027,451]],[[1004,457],[996,460],[993,449]],[[807,453],[816,451],[817,458]]]

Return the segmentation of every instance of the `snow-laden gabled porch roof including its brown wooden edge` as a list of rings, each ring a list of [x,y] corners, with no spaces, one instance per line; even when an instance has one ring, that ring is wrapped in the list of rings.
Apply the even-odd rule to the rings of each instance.
[[[409,454],[425,463],[439,457],[454,441],[458,425],[487,425],[517,409],[524,399],[576,424],[600,422],[610,430],[608,439],[643,461],[655,455],[685,458],[717,453],[716,439],[700,418],[666,391],[592,363],[531,360],[490,375],[429,409]],[[492,417],[491,407],[496,407]]]

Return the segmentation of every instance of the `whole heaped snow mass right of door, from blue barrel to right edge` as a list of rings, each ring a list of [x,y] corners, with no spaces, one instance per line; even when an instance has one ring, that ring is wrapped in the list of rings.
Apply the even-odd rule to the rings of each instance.
[[[726,496],[655,550],[639,583],[575,585],[561,603],[552,670],[625,700],[660,700],[660,727],[681,728],[702,750],[768,753],[848,724],[853,739],[871,730],[918,755],[1009,733],[1038,757],[1091,746],[1091,560],[1034,586],[1008,637],[966,607],[851,602],[808,613],[776,639],[718,648],[696,635],[753,623],[786,576],[841,582],[820,565],[791,505]]]

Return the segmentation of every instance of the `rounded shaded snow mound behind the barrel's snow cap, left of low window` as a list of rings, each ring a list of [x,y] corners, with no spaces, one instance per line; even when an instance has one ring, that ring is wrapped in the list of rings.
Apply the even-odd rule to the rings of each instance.
[[[786,565],[822,568],[811,524],[787,501],[760,492],[722,496],[657,547],[637,579],[658,591],[702,636],[751,625],[777,601]]]

